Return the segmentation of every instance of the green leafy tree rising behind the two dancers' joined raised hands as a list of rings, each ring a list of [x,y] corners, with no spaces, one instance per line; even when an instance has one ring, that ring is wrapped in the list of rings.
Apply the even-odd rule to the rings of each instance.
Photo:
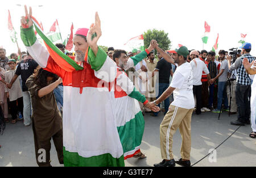
[[[168,38],[168,33],[165,33],[163,30],[158,31],[157,29],[148,29],[147,32],[144,32],[144,47],[148,48],[151,40],[158,41],[159,47],[163,50],[168,50],[171,48],[171,41]],[[156,53],[156,50],[155,50]]]

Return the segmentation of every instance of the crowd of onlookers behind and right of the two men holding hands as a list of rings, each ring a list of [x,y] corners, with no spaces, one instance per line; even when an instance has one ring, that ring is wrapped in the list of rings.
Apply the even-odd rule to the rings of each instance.
[[[196,115],[200,115],[202,112],[222,113],[226,111],[229,115],[237,113],[239,115],[238,120],[231,122],[231,124],[250,124],[250,86],[253,83],[254,75],[246,73],[242,60],[246,56],[251,63],[255,58],[250,55],[251,45],[249,43],[244,44],[242,49],[243,52],[238,50],[234,61],[232,56],[225,50],[219,50],[217,57],[214,51],[188,50],[187,62],[190,63],[193,71],[193,95],[196,104]],[[166,50],[166,53],[172,58],[177,54],[175,50]],[[129,52],[128,54],[129,56],[135,56],[138,53]],[[110,58],[112,58],[111,55],[112,53],[109,55]],[[177,65],[174,62],[164,59],[160,53],[158,53],[158,58],[155,58],[154,53],[151,52],[147,55],[147,58],[144,58],[144,61],[127,70],[127,74],[131,79],[134,79],[134,75],[137,76],[137,79],[140,79],[140,77],[143,77],[143,73],[146,73],[144,76],[147,76],[146,78],[148,79],[141,83],[136,79],[133,81],[142,94],[153,92],[153,95],[146,95],[146,98],[154,101],[167,90],[176,68]],[[134,74],[135,71],[138,74]],[[158,83],[156,83],[158,86],[155,86],[155,80],[151,79],[156,72],[158,72]],[[151,76],[149,77],[149,75]],[[240,85],[247,86],[246,90],[241,91]],[[155,95],[155,91],[158,91],[158,94]],[[240,95],[243,93],[246,96]],[[240,96],[243,97],[240,98]],[[161,104],[164,114],[168,111],[172,101],[174,101],[174,98],[170,96]],[[144,108],[142,108],[142,111],[144,113]],[[151,116],[157,115],[158,112],[151,114]]]

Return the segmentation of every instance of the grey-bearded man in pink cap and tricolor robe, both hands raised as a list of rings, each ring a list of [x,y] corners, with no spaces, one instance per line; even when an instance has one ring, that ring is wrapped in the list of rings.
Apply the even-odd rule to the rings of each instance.
[[[98,48],[100,19],[90,30],[78,29],[73,37],[75,61],[53,45],[32,18],[32,10],[22,17],[21,34],[28,52],[43,69],[63,79],[64,166],[125,166],[122,144],[115,124],[114,92],[104,82],[114,82],[117,66]],[[28,19],[28,20],[27,20]],[[36,39],[32,24],[44,40]],[[55,48],[56,47],[56,48]],[[103,84],[99,86],[98,83]],[[100,91],[99,88],[108,88]]]

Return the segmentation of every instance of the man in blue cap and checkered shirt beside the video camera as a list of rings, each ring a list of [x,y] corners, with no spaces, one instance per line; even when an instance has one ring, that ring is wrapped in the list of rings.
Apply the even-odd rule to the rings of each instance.
[[[251,90],[251,80],[243,67],[243,58],[247,58],[251,63],[255,57],[250,55],[251,44],[243,43],[241,46],[242,56],[237,58],[236,62],[231,65],[231,56],[227,57],[229,70],[237,69],[237,83],[236,83],[236,103],[238,116],[237,120],[230,122],[232,125],[245,125],[250,124],[250,102],[249,92]]]

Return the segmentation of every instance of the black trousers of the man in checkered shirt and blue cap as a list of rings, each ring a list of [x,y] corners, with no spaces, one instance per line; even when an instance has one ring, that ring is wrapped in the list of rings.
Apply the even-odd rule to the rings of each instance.
[[[240,122],[250,121],[250,90],[251,86],[236,83],[237,118]]]

